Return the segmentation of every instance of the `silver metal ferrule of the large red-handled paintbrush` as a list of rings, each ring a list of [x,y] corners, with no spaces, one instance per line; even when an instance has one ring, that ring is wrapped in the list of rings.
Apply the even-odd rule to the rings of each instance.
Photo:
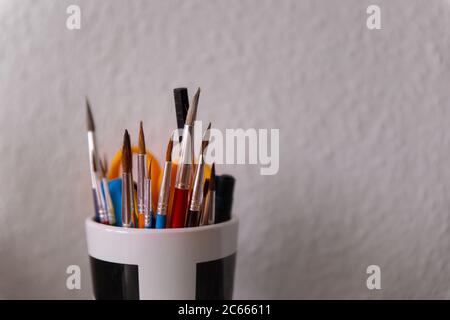
[[[192,165],[194,163],[194,144],[192,143],[192,126],[185,125],[183,141],[181,142],[180,161],[178,163],[175,187],[189,189],[192,180]]]

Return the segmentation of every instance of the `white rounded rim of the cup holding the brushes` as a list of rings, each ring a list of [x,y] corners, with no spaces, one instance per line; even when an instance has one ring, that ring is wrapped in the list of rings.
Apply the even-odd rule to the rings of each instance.
[[[139,228],[124,228],[118,226],[111,226],[106,224],[101,224],[94,220],[94,217],[87,217],[85,220],[87,228],[97,229],[99,231],[106,231],[112,233],[121,234],[183,234],[183,233],[198,233],[209,230],[216,230],[226,228],[227,226],[237,224],[239,221],[238,217],[232,216],[230,220],[206,225],[199,227],[186,227],[186,228],[164,228],[164,229],[139,229]]]

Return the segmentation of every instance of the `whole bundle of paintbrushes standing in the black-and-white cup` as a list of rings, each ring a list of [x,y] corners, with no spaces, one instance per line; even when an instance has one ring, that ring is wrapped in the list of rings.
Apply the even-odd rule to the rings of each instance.
[[[125,130],[122,148],[108,170],[106,157],[98,157],[94,120],[86,99],[91,187],[97,222],[125,228],[163,229],[197,227],[230,219],[234,178],[216,176],[215,164],[205,163],[211,124],[203,134],[199,155],[194,155],[199,97],[200,89],[189,107],[187,89],[174,90],[177,127],[182,135],[170,136],[162,170],[146,149],[142,121],[137,146],[132,147]],[[180,148],[172,161],[174,139]]]

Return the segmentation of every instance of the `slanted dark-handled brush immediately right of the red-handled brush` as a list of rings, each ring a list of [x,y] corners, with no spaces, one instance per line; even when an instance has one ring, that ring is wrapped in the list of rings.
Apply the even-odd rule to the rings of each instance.
[[[197,170],[195,171],[194,186],[191,193],[191,202],[187,213],[186,226],[195,227],[198,225],[200,209],[202,204],[202,183],[205,171],[204,152],[208,147],[211,123],[209,123],[202,139],[202,149],[198,157]]]

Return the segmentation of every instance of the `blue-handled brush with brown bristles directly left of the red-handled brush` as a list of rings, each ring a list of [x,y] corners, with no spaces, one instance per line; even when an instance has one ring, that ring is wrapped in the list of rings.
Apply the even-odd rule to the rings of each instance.
[[[170,194],[170,181],[172,177],[172,149],[173,136],[170,137],[166,149],[166,161],[164,163],[163,177],[159,189],[158,205],[156,207],[156,228],[164,229],[166,227],[166,216]]]

